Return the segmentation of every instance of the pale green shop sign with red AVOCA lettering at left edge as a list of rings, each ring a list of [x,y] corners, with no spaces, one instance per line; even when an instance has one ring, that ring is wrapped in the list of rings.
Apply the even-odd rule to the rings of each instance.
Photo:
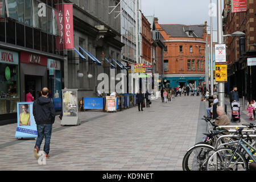
[[[18,52],[0,49],[0,63],[19,64]]]

